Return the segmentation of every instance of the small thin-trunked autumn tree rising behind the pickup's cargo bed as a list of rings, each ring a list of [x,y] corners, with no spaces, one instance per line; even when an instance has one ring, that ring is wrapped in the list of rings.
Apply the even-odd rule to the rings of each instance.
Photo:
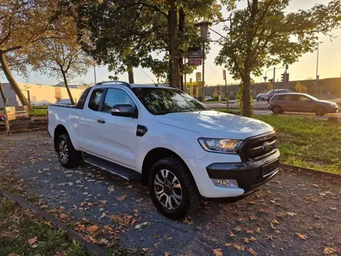
[[[72,18],[59,17],[54,26],[63,31],[63,37],[45,39],[39,45],[44,50],[36,50],[33,47],[29,59],[34,70],[46,73],[51,78],[62,78],[70,101],[75,105],[68,81],[86,75],[93,61],[77,43],[77,30]]]

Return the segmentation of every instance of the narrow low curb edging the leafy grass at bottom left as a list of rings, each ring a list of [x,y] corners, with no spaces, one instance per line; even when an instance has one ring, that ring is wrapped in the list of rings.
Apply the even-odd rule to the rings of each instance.
[[[5,198],[9,199],[10,201],[15,201],[16,203],[18,203],[19,206],[23,208],[28,208],[35,215],[38,215],[44,218],[45,220],[50,221],[50,223],[54,225],[55,227],[60,228],[61,230],[65,230],[70,240],[76,240],[80,245],[82,245],[82,247],[85,249],[87,254],[94,255],[94,256],[107,256],[107,253],[104,252],[100,247],[98,247],[97,245],[93,245],[91,242],[88,242],[81,235],[77,234],[75,231],[68,228],[67,225],[65,225],[64,223],[61,223],[56,218],[53,218],[51,215],[49,215],[45,211],[40,210],[38,206],[35,206],[33,205],[33,203],[26,201],[26,199],[22,198],[21,196],[13,195],[12,193],[9,193],[8,191],[4,191],[1,188],[0,188],[0,194],[4,196]]]

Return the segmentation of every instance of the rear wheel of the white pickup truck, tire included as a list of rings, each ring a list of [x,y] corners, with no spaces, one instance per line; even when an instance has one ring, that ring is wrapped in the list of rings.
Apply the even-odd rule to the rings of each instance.
[[[62,149],[63,148],[63,149]],[[69,134],[62,134],[57,140],[57,153],[60,164],[66,168],[72,168],[80,165],[82,152],[77,151],[70,140]],[[63,156],[66,155],[66,158]]]

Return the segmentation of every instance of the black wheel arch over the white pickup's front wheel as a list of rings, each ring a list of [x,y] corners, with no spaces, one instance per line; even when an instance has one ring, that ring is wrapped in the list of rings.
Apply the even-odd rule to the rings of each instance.
[[[195,183],[195,179],[193,177],[192,172],[188,168],[185,161],[183,161],[183,159],[178,154],[176,154],[171,149],[158,147],[155,149],[151,149],[151,151],[148,151],[148,153],[144,157],[144,162],[142,164],[142,184],[144,186],[148,185],[148,174],[149,174],[149,171],[151,171],[151,166],[153,166],[153,164],[155,164],[156,161],[163,159],[163,158],[166,158],[166,157],[169,157],[169,156],[173,156],[174,158],[181,161],[181,163],[188,169],[188,172],[189,172],[191,178],[193,178],[193,182]],[[196,186],[196,183],[195,183],[195,186]]]

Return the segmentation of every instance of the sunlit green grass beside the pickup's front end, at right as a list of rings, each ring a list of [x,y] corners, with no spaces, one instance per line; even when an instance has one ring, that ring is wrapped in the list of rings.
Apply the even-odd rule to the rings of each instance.
[[[276,115],[256,115],[255,118],[276,130],[282,163],[341,174],[340,124]]]

